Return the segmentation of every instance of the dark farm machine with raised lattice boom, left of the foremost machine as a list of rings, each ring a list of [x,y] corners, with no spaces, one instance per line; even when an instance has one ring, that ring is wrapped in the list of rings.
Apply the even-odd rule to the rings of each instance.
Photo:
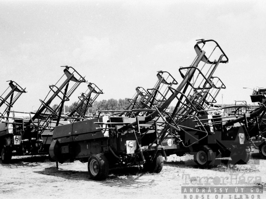
[[[69,123],[68,117],[62,114],[64,103],[86,80],[74,68],[63,67],[63,76],[55,85],[49,85],[50,91],[44,100],[40,100],[41,105],[36,113],[30,113],[27,118],[9,116],[9,120],[4,122],[9,128],[1,131],[4,135],[1,136],[2,163],[8,163],[12,155],[48,154],[54,127]],[[15,91],[21,93],[24,90],[20,88]],[[57,105],[52,106],[52,102]]]

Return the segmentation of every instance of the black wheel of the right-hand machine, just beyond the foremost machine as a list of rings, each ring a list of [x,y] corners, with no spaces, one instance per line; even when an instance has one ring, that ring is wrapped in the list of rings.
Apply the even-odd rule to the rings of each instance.
[[[200,146],[198,152],[194,154],[194,161],[200,168],[214,165],[215,155],[213,150],[207,145]]]

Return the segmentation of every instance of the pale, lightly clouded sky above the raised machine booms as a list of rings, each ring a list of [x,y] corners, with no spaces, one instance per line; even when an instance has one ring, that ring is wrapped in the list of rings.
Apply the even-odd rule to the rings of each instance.
[[[0,93],[8,80],[26,87],[14,110],[32,111],[68,65],[103,89],[98,100],[132,97],[159,70],[180,82],[178,68],[203,38],[229,57],[215,73],[227,86],[218,103],[222,94],[224,103],[251,103],[243,87],[266,86],[265,10],[265,0],[1,0]]]

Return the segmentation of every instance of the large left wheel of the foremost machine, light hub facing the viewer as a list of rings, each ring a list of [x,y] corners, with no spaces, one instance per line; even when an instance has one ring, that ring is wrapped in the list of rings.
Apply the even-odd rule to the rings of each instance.
[[[107,158],[102,153],[92,155],[88,161],[88,171],[93,180],[103,180],[107,178],[109,172]]]

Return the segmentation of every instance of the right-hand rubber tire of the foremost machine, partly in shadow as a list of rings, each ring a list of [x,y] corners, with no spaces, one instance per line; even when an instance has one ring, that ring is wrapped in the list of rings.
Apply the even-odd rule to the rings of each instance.
[[[164,158],[161,152],[157,152],[152,162],[147,162],[143,165],[144,171],[150,173],[160,173],[164,167]]]

